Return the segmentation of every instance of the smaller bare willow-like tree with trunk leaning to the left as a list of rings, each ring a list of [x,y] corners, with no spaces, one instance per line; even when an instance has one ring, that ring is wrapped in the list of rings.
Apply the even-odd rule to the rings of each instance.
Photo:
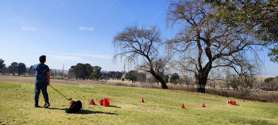
[[[138,26],[134,23],[114,36],[114,59],[120,56],[124,60],[124,67],[132,65],[151,73],[161,83],[162,89],[168,89],[164,80],[156,73],[163,72],[170,60],[169,56],[159,54],[158,47],[161,43],[161,32],[156,26]]]

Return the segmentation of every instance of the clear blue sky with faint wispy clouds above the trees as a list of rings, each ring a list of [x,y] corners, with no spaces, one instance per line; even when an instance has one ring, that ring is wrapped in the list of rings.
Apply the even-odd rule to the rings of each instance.
[[[112,37],[125,25],[157,25],[164,37],[165,1],[13,1],[0,0],[0,58],[6,65],[22,62],[30,67],[47,56],[52,69],[65,69],[76,63],[98,65],[107,71],[123,71],[121,62],[114,64]],[[84,27],[86,30],[79,30]],[[264,57],[266,75],[277,76],[277,63]]]

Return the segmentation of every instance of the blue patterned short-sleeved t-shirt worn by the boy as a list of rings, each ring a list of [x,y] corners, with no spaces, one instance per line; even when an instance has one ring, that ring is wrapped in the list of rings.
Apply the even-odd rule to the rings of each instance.
[[[49,67],[45,64],[36,64],[34,65],[35,74],[35,81],[43,81],[47,80],[46,72],[49,71]]]

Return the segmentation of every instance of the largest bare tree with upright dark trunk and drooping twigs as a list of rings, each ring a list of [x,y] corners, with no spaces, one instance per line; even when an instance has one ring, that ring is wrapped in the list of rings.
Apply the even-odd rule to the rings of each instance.
[[[168,41],[169,48],[179,55],[175,68],[193,74],[201,93],[205,93],[213,68],[230,67],[242,74],[245,66],[260,66],[256,51],[265,45],[254,39],[245,23],[223,23],[216,11],[202,0],[173,0],[166,13],[167,25],[180,27]]]

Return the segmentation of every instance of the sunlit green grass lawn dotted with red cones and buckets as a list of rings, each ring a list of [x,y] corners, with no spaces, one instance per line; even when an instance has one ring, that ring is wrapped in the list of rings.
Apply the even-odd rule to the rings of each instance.
[[[27,88],[22,88],[25,84]],[[209,94],[114,86],[80,88],[79,85],[53,85],[73,100],[81,100],[79,113],[67,114],[69,101],[48,87],[50,109],[33,108],[33,84],[0,82],[1,124],[278,124],[278,104],[251,102]],[[141,98],[146,103],[139,103]],[[111,98],[110,105],[96,104]],[[235,100],[238,105],[226,104]],[[39,106],[43,106],[40,95]],[[204,102],[205,108],[200,107]],[[184,104],[186,109],[181,109]]]

